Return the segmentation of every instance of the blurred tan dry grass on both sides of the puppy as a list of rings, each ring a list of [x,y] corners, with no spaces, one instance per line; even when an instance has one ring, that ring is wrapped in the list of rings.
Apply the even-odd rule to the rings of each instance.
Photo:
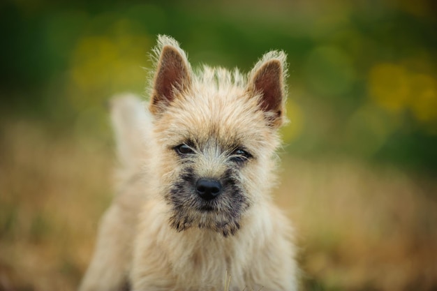
[[[26,121],[0,128],[0,290],[75,290],[110,202],[96,138]],[[284,158],[307,290],[436,290],[437,183],[389,167]]]

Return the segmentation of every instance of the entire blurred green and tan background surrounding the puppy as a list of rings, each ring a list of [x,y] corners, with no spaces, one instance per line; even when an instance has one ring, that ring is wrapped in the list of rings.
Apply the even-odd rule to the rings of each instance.
[[[277,199],[302,234],[306,289],[436,290],[436,11],[433,0],[2,1],[0,290],[77,285],[110,202],[105,102],[145,94],[159,33],[194,67],[249,71],[287,52]]]

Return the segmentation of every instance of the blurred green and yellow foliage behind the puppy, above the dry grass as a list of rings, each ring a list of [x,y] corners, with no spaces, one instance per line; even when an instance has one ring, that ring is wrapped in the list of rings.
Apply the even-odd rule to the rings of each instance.
[[[267,50],[285,50],[290,151],[437,170],[434,1],[0,5],[3,114],[98,129],[103,100],[142,94],[147,54],[165,33],[194,65],[247,71]]]

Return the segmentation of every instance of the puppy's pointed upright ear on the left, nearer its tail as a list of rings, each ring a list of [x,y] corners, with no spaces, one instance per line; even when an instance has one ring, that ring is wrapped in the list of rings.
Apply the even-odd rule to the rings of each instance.
[[[176,40],[168,36],[159,36],[156,52],[159,54],[159,60],[149,105],[152,114],[165,111],[181,92],[189,89],[191,83],[190,65]]]

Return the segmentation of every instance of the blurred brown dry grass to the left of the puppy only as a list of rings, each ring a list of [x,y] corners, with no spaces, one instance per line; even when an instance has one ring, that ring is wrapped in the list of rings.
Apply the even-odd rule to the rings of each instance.
[[[74,290],[111,198],[108,145],[3,121],[0,290]]]

